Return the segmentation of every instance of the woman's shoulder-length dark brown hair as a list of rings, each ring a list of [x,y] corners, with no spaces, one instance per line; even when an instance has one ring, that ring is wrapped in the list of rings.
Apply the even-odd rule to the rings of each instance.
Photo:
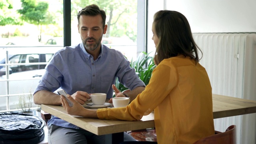
[[[194,42],[190,25],[180,12],[160,10],[154,14],[155,33],[159,38],[154,60],[158,65],[162,60],[178,56],[188,56],[199,62],[198,46]],[[198,49],[198,50],[197,50]],[[202,53],[202,51],[200,50]]]

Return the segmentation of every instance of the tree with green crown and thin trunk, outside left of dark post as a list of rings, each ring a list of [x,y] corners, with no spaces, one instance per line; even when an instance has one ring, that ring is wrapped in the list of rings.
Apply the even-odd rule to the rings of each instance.
[[[49,4],[47,2],[37,2],[37,0],[21,0],[22,8],[18,10],[21,19],[35,24],[40,30],[38,34],[38,42],[42,42],[42,25],[54,24],[54,18],[48,13]]]

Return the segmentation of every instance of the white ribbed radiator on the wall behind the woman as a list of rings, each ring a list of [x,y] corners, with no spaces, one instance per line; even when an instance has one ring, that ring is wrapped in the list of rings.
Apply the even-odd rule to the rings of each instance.
[[[256,100],[256,33],[194,33],[212,93]],[[237,126],[237,144],[256,144],[256,114],[214,119],[215,130]]]

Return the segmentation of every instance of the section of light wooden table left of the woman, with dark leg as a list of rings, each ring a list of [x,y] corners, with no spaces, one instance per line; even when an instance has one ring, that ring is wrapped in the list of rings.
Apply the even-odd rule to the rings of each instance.
[[[62,106],[42,104],[42,110],[96,135],[106,135],[106,144],[120,144],[124,141],[124,132],[126,131],[155,127],[153,112],[143,116],[140,121],[125,121],[72,116],[67,114]]]

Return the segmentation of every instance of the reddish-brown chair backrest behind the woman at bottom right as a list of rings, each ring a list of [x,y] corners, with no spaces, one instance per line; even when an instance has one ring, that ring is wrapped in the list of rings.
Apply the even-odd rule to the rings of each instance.
[[[225,132],[202,138],[194,144],[236,144],[236,126],[229,126]]]

